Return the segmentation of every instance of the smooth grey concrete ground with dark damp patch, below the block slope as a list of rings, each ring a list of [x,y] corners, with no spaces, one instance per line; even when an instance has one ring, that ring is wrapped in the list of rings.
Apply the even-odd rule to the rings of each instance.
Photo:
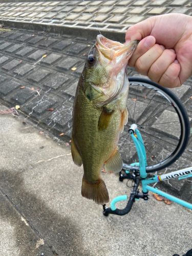
[[[81,197],[83,169],[67,141],[41,131],[24,116],[1,115],[0,255],[172,256],[191,249],[191,210],[150,194],[128,215],[104,217],[102,206]],[[115,175],[102,176],[110,202],[130,193]]]

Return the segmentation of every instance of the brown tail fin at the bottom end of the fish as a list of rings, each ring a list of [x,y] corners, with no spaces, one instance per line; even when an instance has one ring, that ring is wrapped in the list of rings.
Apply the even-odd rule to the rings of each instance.
[[[100,178],[96,183],[88,183],[82,178],[81,195],[87,199],[93,199],[96,204],[109,202],[109,194],[104,181]]]

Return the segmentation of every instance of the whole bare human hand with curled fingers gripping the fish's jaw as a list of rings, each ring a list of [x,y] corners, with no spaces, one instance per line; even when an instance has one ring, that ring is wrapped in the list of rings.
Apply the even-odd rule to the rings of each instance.
[[[129,66],[163,87],[179,87],[192,75],[192,17],[164,14],[130,27],[125,44],[140,40]]]

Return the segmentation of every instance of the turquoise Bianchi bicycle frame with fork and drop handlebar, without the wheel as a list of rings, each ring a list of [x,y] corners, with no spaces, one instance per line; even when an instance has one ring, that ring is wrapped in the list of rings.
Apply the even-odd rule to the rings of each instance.
[[[188,167],[188,168],[181,169],[181,170],[176,170],[175,172],[164,174],[164,175],[159,175],[159,176],[155,175],[153,178],[147,179],[147,173],[146,173],[146,168],[145,168],[147,166],[146,152],[145,152],[145,147],[143,144],[141,134],[140,134],[139,130],[137,129],[136,124],[132,124],[131,129],[129,130],[129,133],[135,143],[135,146],[137,149],[137,154],[139,157],[139,163],[133,163],[131,165],[140,167],[138,176],[140,176],[140,180],[141,180],[141,184],[142,184],[142,194],[140,194],[139,191],[137,191],[137,187],[139,185],[139,182],[138,182],[139,179],[138,178],[136,179],[136,178],[134,178],[134,176],[130,175],[130,171],[133,172],[134,167],[132,170],[129,171],[129,168],[127,168],[126,164],[123,163],[123,169],[126,172],[125,178],[130,179],[132,177],[131,179],[134,179],[134,181],[135,181],[135,185],[132,190],[130,200],[129,200],[127,206],[125,207],[126,211],[125,211],[125,209],[119,210],[115,206],[115,204],[118,201],[127,200],[127,196],[119,196],[119,197],[116,197],[115,199],[113,199],[113,201],[111,202],[111,208],[108,208],[105,205],[103,206],[103,210],[104,210],[103,214],[105,216],[108,216],[109,214],[116,214],[116,215],[127,214],[131,210],[131,207],[132,207],[135,199],[143,198],[145,201],[148,200],[148,191],[152,191],[153,193],[161,195],[173,202],[183,205],[189,209],[192,209],[192,204],[190,204],[184,200],[181,200],[177,197],[174,197],[172,195],[169,195],[169,194],[165,193],[164,191],[159,190],[158,188],[154,188],[154,187],[151,187],[148,185],[151,183],[156,183],[159,181],[164,181],[164,180],[169,180],[169,179],[174,179],[174,178],[179,178],[179,180],[180,180],[180,179],[192,177],[192,166]],[[121,177],[123,177],[123,175]],[[137,182],[137,184],[136,184],[136,182]]]

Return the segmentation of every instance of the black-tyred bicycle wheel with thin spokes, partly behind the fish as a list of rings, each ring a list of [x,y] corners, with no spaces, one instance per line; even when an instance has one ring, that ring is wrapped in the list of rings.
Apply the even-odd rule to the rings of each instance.
[[[180,99],[167,88],[140,77],[129,77],[129,81],[129,116],[120,134],[119,151],[126,167],[133,169],[130,164],[139,160],[128,130],[131,124],[139,124],[146,150],[146,172],[156,172],[175,162],[184,152],[189,140],[188,116]]]

